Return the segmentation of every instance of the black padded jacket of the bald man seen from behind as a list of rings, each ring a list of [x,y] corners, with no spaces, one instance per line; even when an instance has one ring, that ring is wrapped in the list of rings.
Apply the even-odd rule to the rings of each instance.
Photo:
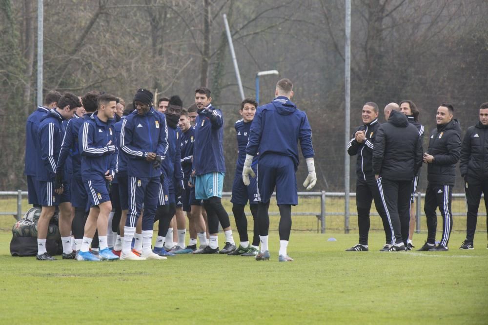
[[[388,121],[378,128],[373,149],[373,172],[382,178],[412,180],[422,166],[419,130],[407,116],[391,111]]]

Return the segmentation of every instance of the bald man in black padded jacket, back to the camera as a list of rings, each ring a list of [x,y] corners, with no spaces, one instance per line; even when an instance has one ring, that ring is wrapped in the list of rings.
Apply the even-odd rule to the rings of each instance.
[[[388,121],[378,128],[373,149],[373,172],[391,228],[389,251],[405,250],[410,227],[410,188],[422,166],[419,131],[390,103]]]

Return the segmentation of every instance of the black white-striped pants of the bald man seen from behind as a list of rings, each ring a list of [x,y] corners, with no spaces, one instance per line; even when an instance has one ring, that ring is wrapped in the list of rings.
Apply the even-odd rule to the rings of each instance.
[[[395,181],[380,177],[377,184],[391,229],[391,244],[404,243],[407,246],[412,180]]]

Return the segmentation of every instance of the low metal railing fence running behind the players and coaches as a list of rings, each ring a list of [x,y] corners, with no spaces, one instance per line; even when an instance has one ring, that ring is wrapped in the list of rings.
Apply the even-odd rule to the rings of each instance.
[[[230,204],[231,192],[223,193],[223,204],[229,215],[232,216],[232,208]],[[325,233],[326,229],[333,231],[344,231],[345,233],[351,230],[357,230],[357,220],[351,218],[347,220],[344,213],[344,192],[298,192],[299,205],[292,209],[293,229],[303,231],[316,231],[317,233]],[[356,193],[350,193],[351,197],[355,197]],[[418,192],[416,197],[424,198],[425,194]],[[269,216],[270,216],[270,230],[278,229],[277,224],[279,222],[279,211],[276,207],[276,197],[273,194],[273,198],[270,204]],[[423,212],[423,199],[415,200],[415,211],[417,215],[416,232],[421,232],[422,225],[425,225],[425,214]],[[455,230],[463,229],[463,218],[466,219],[466,201],[464,193],[452,194],[452,215],[456,217],[459,227]],[[350,215],[357,215],[354,204],[351,205]],[[29,209],[27,203],[26,191],[0,191],[0,216],[8,215],[13,216],[19,220],[24,213]],[[246,208],[248,209],[248,207]],[[480,211],[478,216],[486,216],[486,210],[484,205],[480,205]],[[247,210],[247,215],[250,215]],[[371,207],[371,216],[379,216],[374,208],[374,204]],[[233,218],[231,218],[232,220]],[[248,218],[251,219],[251,218]],[[233,220],[232,220],[233,222]],[[486,222],[486,218],[479,218],[478,230],[486,231],[486,227],[483,224]],[[252,223],[252,220],[249,220]],[[464,223],[466,225],[466,223]],[[276,227],[274,227],[276,226]],[[249,229],[252,229],[249,227]],[[371,218],[371,229],[382,229],[380,218]],[[425,230],[425,229],[424,229]]]

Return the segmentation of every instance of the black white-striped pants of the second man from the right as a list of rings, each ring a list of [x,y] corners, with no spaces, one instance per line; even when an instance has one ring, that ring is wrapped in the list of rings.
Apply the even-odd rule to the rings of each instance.
[[[449,242],[449,235],[452,229],[452,186],[451,185],[437,185],[427,184],[426,198],[424,202],[424,212],[427,218],[427,243],[435,244],[435,231],[437,230],[437,215],[435,210],[439,207],[441,211],[442,223],[442,239],[440,245],[447,247]],[[478,200],[479,203],[479,200]]]

